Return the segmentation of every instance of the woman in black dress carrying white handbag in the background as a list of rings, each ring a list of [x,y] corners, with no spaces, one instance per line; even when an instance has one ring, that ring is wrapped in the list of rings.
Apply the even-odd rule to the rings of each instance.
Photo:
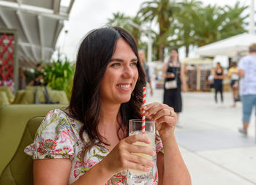
[[[165,62],[162,72],[164,83],[164,103],[173,107],[179,118],[182,110],[181,90],[186,91],[186,82],[184,78],[184,65],[178,60],[178,49],[170,50],[169,61]],[[181,123],[177,123],[181,127]]]

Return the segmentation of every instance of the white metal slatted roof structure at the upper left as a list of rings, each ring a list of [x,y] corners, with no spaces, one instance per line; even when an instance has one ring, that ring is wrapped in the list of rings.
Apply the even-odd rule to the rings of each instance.
[[[0,29],[18,31],[18,60],[23,67],[50,60],[64,20],[75,0],[0,0]]]

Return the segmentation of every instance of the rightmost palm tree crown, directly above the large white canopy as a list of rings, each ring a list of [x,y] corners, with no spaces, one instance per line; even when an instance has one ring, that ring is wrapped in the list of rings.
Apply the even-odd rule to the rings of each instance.
[[[208,5],[193,12],[193,30],[195,45],[203,46],[220,39],[243,33],[244,19],[241,17],[246,7],[216,7]]]

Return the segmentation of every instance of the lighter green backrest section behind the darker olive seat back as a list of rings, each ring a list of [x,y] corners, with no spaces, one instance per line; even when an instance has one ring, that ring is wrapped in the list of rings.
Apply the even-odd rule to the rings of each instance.
[[[45,116],[50,110],[67,105],[5,105],[0,108],[0,174],[14,156],[26,123],[34,116]],[[8,143],[8,145],[7,145]]]

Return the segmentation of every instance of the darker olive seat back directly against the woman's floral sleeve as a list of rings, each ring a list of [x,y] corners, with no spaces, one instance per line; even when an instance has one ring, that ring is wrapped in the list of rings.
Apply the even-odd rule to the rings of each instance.
[[[24,153],[24,148],[33,143],[37,128],[44,116],[31,118],[26,124],[23,137],[11,161],[0,176],[1,184],[33,184],[33,159]]]

